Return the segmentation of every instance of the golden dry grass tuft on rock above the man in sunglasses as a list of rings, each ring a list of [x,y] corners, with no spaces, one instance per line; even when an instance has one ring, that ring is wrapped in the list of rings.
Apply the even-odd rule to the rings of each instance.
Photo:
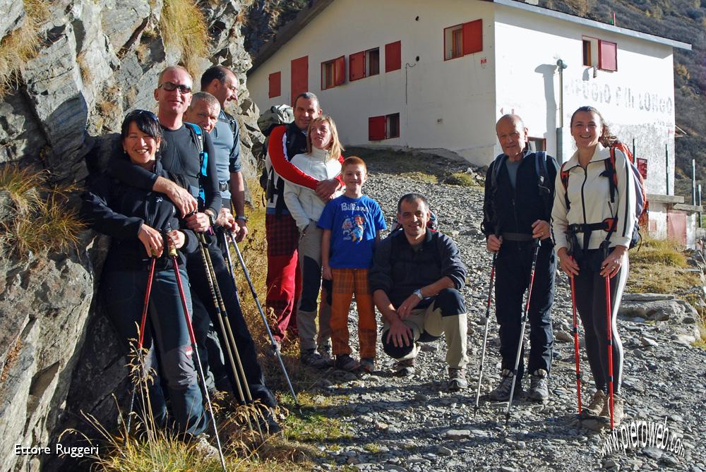
[[[181,52],[181,63],[198,75],[198,60],[208,56],[208,27],[193,0],[164,0],[160,30],[167,49]]]

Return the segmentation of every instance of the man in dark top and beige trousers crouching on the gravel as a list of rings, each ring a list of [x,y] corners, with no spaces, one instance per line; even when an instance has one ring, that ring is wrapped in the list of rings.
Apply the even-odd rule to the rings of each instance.
[[[402,229],[378,245],[370,270],[373,301],[383,315],[383,350],[398,375],[414,373],[419,342],[445,335],[448,388],[465,389],[467,321],[459,290],[466,268],[451,238],[427,227],[429,202],[408,193],[397,203]]]

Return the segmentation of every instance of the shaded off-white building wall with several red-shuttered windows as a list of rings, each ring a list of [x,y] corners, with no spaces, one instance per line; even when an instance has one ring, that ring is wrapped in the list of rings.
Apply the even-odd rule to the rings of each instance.
[[[336,0],[249,76],[251,95],[260,109],[291,102],[290,61],[309,55],[309,90],[333,116],[345,144],[441,147],[479,162],[494,139],[494,123],[486,119],[495,107],[493,5],[443,3]],[[444,61],[443,29],[479,18],[483,51]],[[398,40],[402,68],[385,73],[385,44]],[[380,74],[349,82],[349,54],[373,47],[380,48]],[[342,55],[345,83],[321,90],[321,62]],[[282,73],[282,95],[270,100],[268,75],[276,71]],[[371,143],[368,117],[393,113],[400,113],[400,138]]]

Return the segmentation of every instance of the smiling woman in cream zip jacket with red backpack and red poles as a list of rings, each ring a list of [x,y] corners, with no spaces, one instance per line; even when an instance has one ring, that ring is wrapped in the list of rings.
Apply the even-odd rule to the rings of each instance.
[[[628,279],[628,247],[635,225],[635,184],[628,157],[615,151],[617,185],[611,197],[612,174],[606,175],[616,142],[603,116],[580,107],[571,116],[577,151],[556,176],[552,236],[561,270],[573,277],[576,306],[585,330],[586,351],[597,392],[582,416],[610,420],[606,279],[610,281],[614,425],[623,418],[620,397],[623,345],[616,317]],[[563,180],[562,180],[563,174]]]

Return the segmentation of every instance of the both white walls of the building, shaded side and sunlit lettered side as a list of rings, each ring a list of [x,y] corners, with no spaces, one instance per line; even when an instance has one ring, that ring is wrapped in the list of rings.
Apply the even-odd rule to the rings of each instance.
[[[417,20],[416,18],[419,17]],[[481,18],[483,51],[443,60],[443,29]],[[582,66],[582,36],[618,44],[618,71]],[[402,68],[385,73],[385,44],[401,40]],[[379,75],[348,81],[348,56],[380,48]],[[597,54],[597,52],[594,52]],[[647,191],[674,193],[674,73],[670,46],[475,0],[336,0],[267,62],[248,85],[260,109],[290,103],[290,62],[309,56],[309,90],[349,145],[445,148],[475,164],[500,152],[495,121],[520,114],[530,135],[556,155],[559,87],[564,71],[563,155],[574,150],[569,120],[581,105],[597,107],[621,140],[647,157]],[[346,56],[343,85],[321,90],[321,63]],[[419,56],[419,61],[417,61]],[[282,95],[268,98],[268,75],[282,73]],[[371,143],[368,118],[400,113],[400,137]]]

